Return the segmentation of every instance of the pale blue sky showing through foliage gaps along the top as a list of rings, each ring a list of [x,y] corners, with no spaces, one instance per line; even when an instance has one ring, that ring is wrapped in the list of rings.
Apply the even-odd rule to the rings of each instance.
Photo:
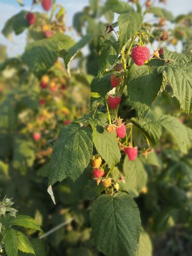
[[[103,2],[103,0],[101,0]],[[124,0],[127,2],[126,0]],[[26,10],[30,10],[32,0],[23,0]],[[57,3],[64,5],[66,10],[66,25],[67,27],[72,26],[73,15],[80,11],[85,5],[87,5],[89,0],[58,0]],[[141,0],[144,3],[144,0]],[[156,0],[158,3],[158,0]],[[187,14],[192,11],[192,0],[167,0],[167,5],[160,4],[161,7],[165,7],[172,11],[173,15]],[[17,0],[0,0],[0,30],[2,30],[6,20],[11,16],[17,14],[22,7],[19,6]],[[36,7],[35,10],[41,9],[40,5]],[[76,37],[75,32],[72,36]],[[0,34],[0,42],[7,46],[7,51],[9,56],[16,56],[24,51],[25,47],[26,33],[22,33],[19,36],[13,36],[13,41],[9,42],[2,34]]]

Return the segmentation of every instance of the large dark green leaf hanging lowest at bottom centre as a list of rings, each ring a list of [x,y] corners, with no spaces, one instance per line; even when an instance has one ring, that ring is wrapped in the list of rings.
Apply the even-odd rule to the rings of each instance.
[[[135,256],[141,220],[134,200],[126,193],[107,194],[93,201],[90,212],[92,234],[106,256]],[[99,225],[98,225],[99,221]]]

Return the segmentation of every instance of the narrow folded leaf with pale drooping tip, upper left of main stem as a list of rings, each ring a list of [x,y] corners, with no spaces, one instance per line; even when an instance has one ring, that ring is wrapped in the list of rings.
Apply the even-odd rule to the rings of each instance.
[[[81,40],[72,46],[68,51],[62,51],[60,56],[63,57],[65,62],[65,67],[67,69],[68,74],[70,75],[70,63],[75,57],[75,55],[83,48],[86,44],[88,44],[93,39],[93,35],[85,35]]]

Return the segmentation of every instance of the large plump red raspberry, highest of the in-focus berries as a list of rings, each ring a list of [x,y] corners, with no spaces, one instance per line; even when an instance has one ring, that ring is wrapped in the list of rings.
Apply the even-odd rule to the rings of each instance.
[[[132,50],[132,58],[134,63],[138,66],[145,64],[146,60],[149,59],[150,52],[146,46],[136,46]]]

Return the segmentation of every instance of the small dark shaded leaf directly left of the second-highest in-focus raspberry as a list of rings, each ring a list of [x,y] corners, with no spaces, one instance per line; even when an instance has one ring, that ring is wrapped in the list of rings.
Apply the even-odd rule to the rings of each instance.
[[[112,90],[111,75],[105,75],[101,78],[95,77],[91,83],[91,92],[97,92],[104,97],[108,91]]]

